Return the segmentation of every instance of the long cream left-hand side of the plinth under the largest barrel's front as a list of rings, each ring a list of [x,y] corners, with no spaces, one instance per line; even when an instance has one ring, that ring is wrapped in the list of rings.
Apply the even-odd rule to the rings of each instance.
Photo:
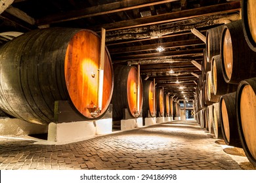
[[[93,122],[68,122],[62,124],[49,124],[48,141],[70,142],[84,139],[96,134]]]

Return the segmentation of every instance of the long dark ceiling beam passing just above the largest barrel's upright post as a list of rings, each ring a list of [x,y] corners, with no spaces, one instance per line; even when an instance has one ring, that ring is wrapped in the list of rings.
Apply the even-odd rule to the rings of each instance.
[[[89,27],[95,31],[99,31],[101,27],[104,27],[106,31],[114,31],[118,29],[127,29],[130,27],[141,27],[145,25],[163,24],[167,22],[176,22],[186,20],[189,18],[197,18],[200,16],[211,16],[214,14],[220,14],[224,12],[232,12],[234,10],[240,10],[240,3],[231,2],[223,3],[219,5],[211,5],[208,7],[193,8],[189,10],[181,10],[178,12],[170,12],[167,14],[159,14],[155,16],[147,16],[144,18],[137,18],[134,20],[123,20],[120,22],[114,22],[111,24],[97,25]]]

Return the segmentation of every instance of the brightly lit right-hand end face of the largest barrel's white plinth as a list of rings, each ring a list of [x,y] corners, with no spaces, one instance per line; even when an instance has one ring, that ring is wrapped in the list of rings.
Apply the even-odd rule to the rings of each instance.
[[[112,133],[112,118],[96,120],[96,135]]]

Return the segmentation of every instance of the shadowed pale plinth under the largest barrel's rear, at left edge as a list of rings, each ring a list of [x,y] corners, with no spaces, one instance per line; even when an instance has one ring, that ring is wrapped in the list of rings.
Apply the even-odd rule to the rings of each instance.
[[[39,125],[26,122],[17,118],[0,119],[0,135],[11,137],[22,137],[47,133],[48,125]]]

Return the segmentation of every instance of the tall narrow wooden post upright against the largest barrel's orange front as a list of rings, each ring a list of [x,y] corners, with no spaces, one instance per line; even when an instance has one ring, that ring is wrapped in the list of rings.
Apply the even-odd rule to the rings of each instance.
[[[101,29],[100,63],[98,65],[98,110],[102,110],[104,59],[105,59],[105,38],[106,30]]]

